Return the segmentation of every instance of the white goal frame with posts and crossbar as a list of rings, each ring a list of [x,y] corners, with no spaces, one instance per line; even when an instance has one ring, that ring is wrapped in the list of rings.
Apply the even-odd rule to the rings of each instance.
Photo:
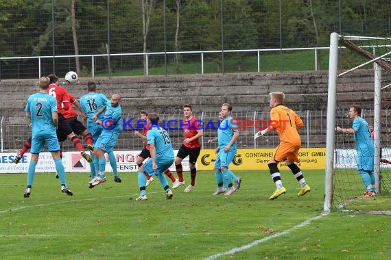
[[[335,118],[336,118],[336,108],[337,108],[337,78],[350,73],[353,70],[357,70],[366,64],[373,63],[374,68],[374,114],[373,120],[375,122],[381,122],[381,70],[385,68],[386,70],[391,71],[391,65],[383,61],[383,57],[386,57],[391,54],[385,53],[379,57],[374,54],[358,48],[355,44],[350,41],[353,40],[391,40],[391,38],[377,38],[377,37],[358,37],[358,36],[340,36],[337,33],[332,33],[330,36],[330,53],[329,53],[329,84],[328,84],[328,100],[327,100],[327,143],[326,143],[326,171],[325,171],[325,181],[324,181],[324,207],[323,211],[325,213],[331,211],[333,203],[333,174],[335,166]],[[367,62],[346,70],[344,73],[338,75],[338,58],[339,58],[339,49],[342,48],[339,46],[342,44],[344,47],[357,51],[359,55],[362,55],[368,59]],[[388,86],[386,86],[388,87]],[[384,88],[386,88],[384,87]],[[353,105],[353,104],[352,104]],[[380,191],[380,181],[381,181],[381,124],[374,124],[375,131],[375,158],[374,158],[374,174],[376,177],[376,190]]]

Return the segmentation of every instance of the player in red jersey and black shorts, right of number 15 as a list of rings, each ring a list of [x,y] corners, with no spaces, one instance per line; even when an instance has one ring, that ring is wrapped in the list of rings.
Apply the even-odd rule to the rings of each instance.
[[[197,174],[197,169],[195,168],[195,163],[197,162],[198,156],[201,151],[200,137],[204,134],[202,125],[200,121],[193,116],[193,109],[191,105],[183,106],[183,130],[185,135],[185,140],[183,141],[182,146],[180,146],[178,154],[175,158],[175,168],[178,174],[178,181],[172,186],[173,189],[176,189],[180,185],[185,185],[185,180],[183,179],[183,169],[182,169],[182,160],[189,156],[189,166],[190,166],[190,185],[186,187],[185,192],[191,192],[195,185],[195,175]]]

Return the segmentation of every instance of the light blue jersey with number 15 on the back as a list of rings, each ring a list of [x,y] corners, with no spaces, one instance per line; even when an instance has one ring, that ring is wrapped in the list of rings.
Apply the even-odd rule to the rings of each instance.
[[[166,164],[167,161],[174,161],[174,151],[171,139],[165,129],[152,125],[147,133],[147,144],[155,144],[156,164]]]

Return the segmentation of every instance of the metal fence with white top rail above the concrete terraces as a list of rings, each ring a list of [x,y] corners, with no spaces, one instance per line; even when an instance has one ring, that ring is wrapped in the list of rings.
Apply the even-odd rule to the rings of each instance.
[[[320,55],[320,52],[324,55]],[[224,55],[225,61],[230,64],[225,71],[228,73],[243,73],[243,72],[265,72],[265,71],[274,71],[279,70],[273,64],[275,62],[270,62],[268,59],[263,60],[263,55],[267,57],[268,55],[281,55],[281,58],[284,55],[298,55],[303,56],[302,53],[305,53],[303,63],[300,66],[294,66],[290,70],[318,70],[320,69],[320,64],[327,64],[327,58],[329,53],[329,47],[308,47],[308,48],[286,48],[286,49],[241,49],[241,50],[218,50],[218,51],[170,51],[170,52],[150,52],[150,53],[112,53],[112,54],[89,54],[89,55],[57,55],[53,56],[24,56],[24,57],[0,57],[0,69],[3,70],[12,70],[17,64],[22,65],[28,64],[29,67],[29,77],[40,78],[44,75],[47,75],[47,69],[45,64],[54,60],[55,62],[61,63],[73,63],[75,57],[80,58],[80,62],[84,68],[82,75],[84,76],[120,76],[123,73],[132,73],[136,75],[162,75],[162,71],[154,71],[156,64],[150,64],[150,60],[158,58],[161,56],[167,57],[169,60],[172,60],[172,57],[175,55],[192,55],[193,65],[191,70],[183,71],[185,74],[206,74],[206,73],[222,73],[222,70],[217,68],[217,61],[211,61],[211,55]],[[134,67],[129,65],[129,62],[132,60],[138,60],[145,55],[145,73],[143,70],[134,70]],[[240,68],[237,56],[249,57],[246,68]],[[322,56],[322,59],[319,58]],[[253,57],[253,58],[251,58]],[[113,67],[114,71],[102,70],[104,67],[108,67],[109,60],[120,60],[119,66]],[[161,67],[165,67],[165,74],[182,74],[180,70],[176,70],[170,66],[170,64],[162,63]],[[101,69],[99,69],[101,68]],[[70,70],[72,68],[69,68]],[[283,68],[280,68],[283,70]],[[164,73],[163,73],[164,74]],[[15,77],[17,78],[17,77]],[[0,74],[1,79],[1,74]]]

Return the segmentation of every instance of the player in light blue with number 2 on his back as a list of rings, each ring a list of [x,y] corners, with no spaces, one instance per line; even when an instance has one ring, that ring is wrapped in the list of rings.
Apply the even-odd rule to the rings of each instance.
[[[32,183],[35,176],[35,168],[38,163],[39,153],[43,151],[46,143],[47,149],[51,152],[56,165],[56,171],[61,183],[61,192],[72,196],[73,193],[67,187],[65,180],[65,170],[60,158],[60,144],[58,143],[56,128],[58,125],[57,100],[47,94],[50,79],[41,77],[38,81],[40,91],[32,94],[27,99],[25,108],[27,118],[32,121],[32,146],[31,161],[27,172],[27,189],[24,197],[29,198],[32,191]]]

